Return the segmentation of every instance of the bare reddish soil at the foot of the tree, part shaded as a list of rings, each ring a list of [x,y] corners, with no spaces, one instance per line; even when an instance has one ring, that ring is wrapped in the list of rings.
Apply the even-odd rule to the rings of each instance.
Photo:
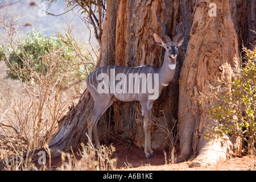
[[[242,158],[231,158],[223,162],[216,164],[215,166],[209,167],[197,167],[189,168],[189,164],[192,160],[188,162],[183,162],[179,164],[170,164],[167,156],[167,164],[164,159],[163,151],[156,152],[155,156],[151,159],[146,159],[144,156],[144,150],[139,149],[136,146],[132,146],[127,149],[123,144],[114,144],[115,153],[113,157],[117,157],[117,169],[118,170],[152,170],[152,171],[179,171],[179,170],[189,170],[189,171],[234,171],[234,170],[255,170],[256,169],[256,157],[254,155],[242,156]]]

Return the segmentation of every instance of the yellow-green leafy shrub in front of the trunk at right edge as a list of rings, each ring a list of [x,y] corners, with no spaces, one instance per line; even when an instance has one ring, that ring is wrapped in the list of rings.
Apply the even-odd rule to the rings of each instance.
[[[210,117],[216,120],[205,137],[235,135],[245,140],[250,154],[256,155],[256,48],[244,50],[247,61],[237,79],[231,82],[231,90],[218,89],[209,96],[212,104],[204,102]]]

